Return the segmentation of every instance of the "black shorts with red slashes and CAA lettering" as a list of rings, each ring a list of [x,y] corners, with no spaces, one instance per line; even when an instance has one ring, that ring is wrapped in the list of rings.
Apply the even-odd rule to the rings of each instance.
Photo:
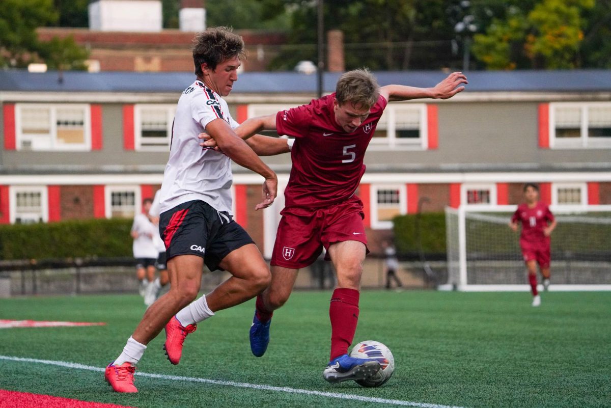
[[[219,268],[230,252],[254,244],[244,228],[228,213],[221,213],[202,200],[193,200],[164,211],[159,232],[166,244],[166,258],[197,255],[210,271]]]

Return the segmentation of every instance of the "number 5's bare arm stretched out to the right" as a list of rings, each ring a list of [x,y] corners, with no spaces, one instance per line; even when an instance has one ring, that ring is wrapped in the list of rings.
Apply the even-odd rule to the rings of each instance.
[[[462,72],[453,72],[432,88],[418,88],[405,85],[387,85],[380,88],[380,95],[387,101],[408,101],[412,99],[431,98],[448,99],[462,92],[468,84],[467,77]]]

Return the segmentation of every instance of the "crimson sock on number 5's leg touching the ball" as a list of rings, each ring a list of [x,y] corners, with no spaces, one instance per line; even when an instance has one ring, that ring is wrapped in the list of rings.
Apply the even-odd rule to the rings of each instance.
[[[348,354],[359,321],[359,291],[337,288],[329,306],[331,318],[331,359]]]

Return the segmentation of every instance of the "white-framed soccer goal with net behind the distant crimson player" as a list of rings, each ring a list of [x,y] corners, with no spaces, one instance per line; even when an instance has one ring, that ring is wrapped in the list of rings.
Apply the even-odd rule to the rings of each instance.
[[[516,206],[447,208],[448,279],[442,290],[527,291]],[[611,290],[611,206],[551,207],[550,290]],[[539,275],[541,282],[541,276]]]

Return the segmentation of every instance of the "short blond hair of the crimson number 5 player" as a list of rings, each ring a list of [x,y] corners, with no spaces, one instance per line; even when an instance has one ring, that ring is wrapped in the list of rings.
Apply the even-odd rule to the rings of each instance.
[[[350,102],[354,106],[370,108],[378,97],[378,81],[367,68],[344,73],[335,86],[335,99],[340,105]]]

